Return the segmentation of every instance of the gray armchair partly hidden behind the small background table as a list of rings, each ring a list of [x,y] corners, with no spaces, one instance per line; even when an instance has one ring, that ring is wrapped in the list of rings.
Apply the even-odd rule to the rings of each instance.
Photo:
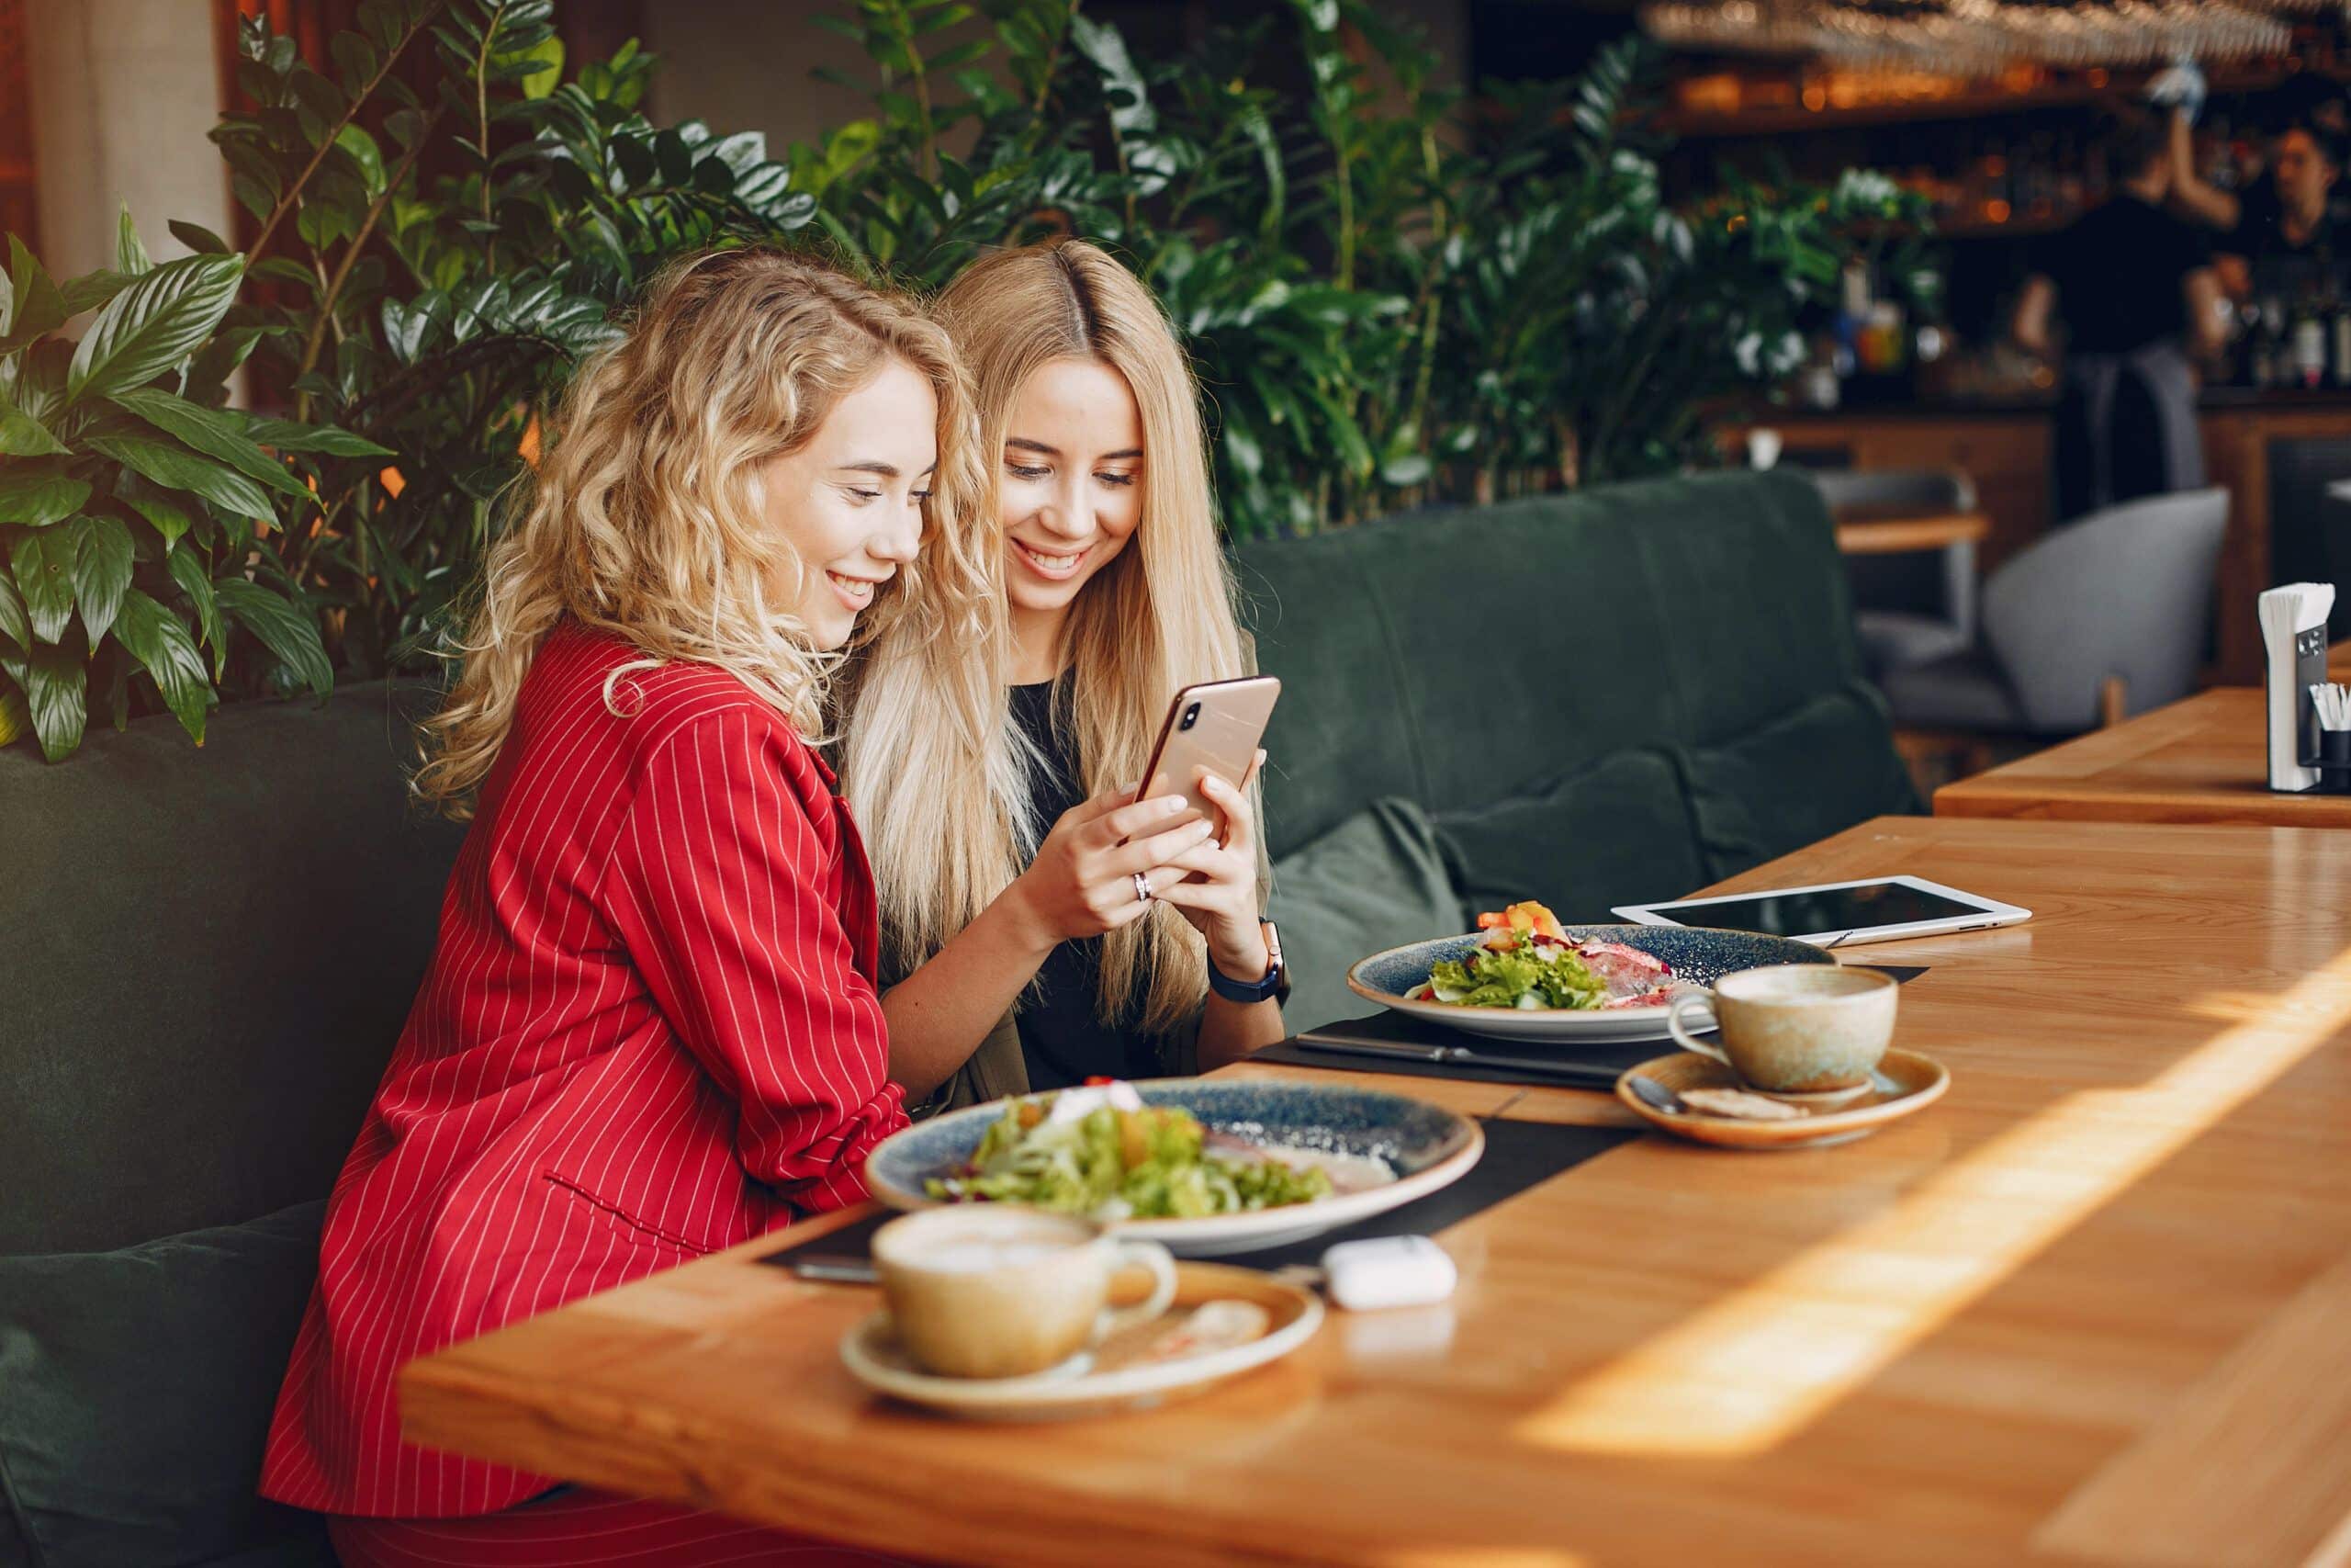
[[[1808,477],[1831,512],[1928,517],[1975,510],[1975,482],[1956,468],[1829,468]],[[1975,646],[1972,543],[1853,555],[1846,557],[1846,576],[1853,581],[1862,668],[1874,679]]]

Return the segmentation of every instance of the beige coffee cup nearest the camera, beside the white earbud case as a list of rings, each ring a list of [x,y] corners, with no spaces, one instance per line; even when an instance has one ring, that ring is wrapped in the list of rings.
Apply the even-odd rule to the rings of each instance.
[[[1016,1204],[910,1213],[875,1232],[872,1255],[900,1345],[943,1378],[1041,1373],[1176,1300],[1168,1248]],[[1112,1281],[1136,1269],[1150,1298],[1112,1309]]]

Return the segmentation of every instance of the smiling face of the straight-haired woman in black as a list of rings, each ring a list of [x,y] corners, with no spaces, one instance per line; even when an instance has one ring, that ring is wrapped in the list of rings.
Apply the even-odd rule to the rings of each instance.
[[[1013,400],[997,470],[1004,588],[1058,621],[1143,522],[1143,409],[1098,360],[1049,360]]]

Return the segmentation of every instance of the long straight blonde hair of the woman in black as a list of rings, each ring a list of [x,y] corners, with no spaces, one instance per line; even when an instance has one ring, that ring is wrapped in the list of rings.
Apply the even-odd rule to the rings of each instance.
[[[1215,527],[1199,383],[1159,301],[1081,240],[999,252],[938,299],[978,390],[980,451],[1004,456],[1020,388],[1051,360],[1093,360],[1126,378],[1143,414],[1143,517],[1065,621],[1056,724],[1070,724],[1086,795],[1133,788],[1178,689],[1244,672],[1232,571]],[[1002,574],[1002,512],[985,498]],[[978,536],[983,529],[973,529]],[[882,889],[893,961],[907,971],[969,926],[1037,853],[1034,759],[1011,719],[1009,646],[990,670],[985,741],[926,708],[933,651],[884,635],[858,682],[842,773]],[[1098,1016],[1166,1032],[1208,990],[1206,947],[1171,905],[1103,938]]]

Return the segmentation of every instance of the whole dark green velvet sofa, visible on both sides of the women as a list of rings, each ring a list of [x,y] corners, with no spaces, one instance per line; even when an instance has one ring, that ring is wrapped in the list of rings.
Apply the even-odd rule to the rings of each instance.
[[[1916,809],[1801,480],[1429,512],[1239,552],[1300,1020],[1392,940],[1674,896]],[[416,693],[0,750],[0,1563],[329,1563],[252,1474],[317,1215],[458,830]]]

